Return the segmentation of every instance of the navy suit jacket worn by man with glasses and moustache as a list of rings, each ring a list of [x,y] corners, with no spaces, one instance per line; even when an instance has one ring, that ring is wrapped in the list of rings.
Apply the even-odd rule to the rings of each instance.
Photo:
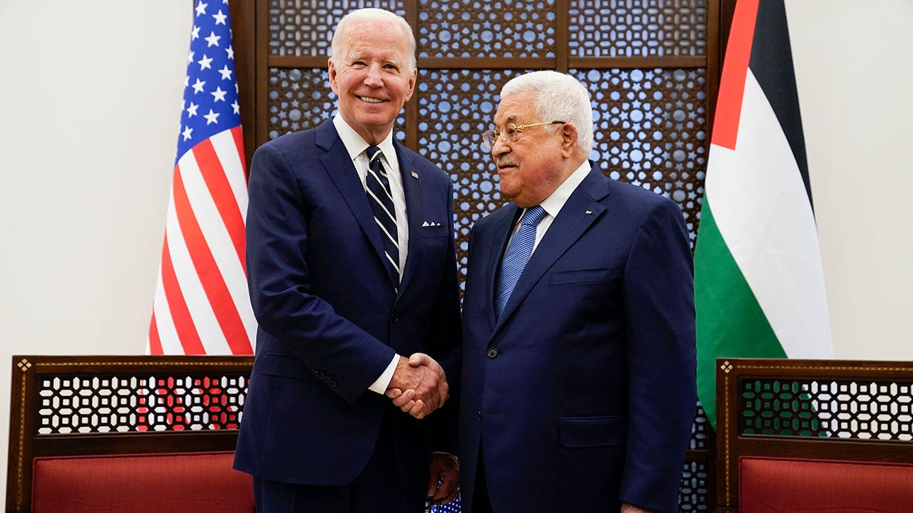
[[[665,197],[593,170],[519,277],[501,319],[498,264],[520,210],[480,220],[463,308],[460,460],[472,503],[510,511],[677,511],[695,414],[691,251]]]

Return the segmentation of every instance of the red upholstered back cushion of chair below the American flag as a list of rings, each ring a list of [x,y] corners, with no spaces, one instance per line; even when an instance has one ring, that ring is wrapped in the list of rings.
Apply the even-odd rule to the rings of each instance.
[[[234,452],[37,457],[34,513],[251,513],[251,477]]]

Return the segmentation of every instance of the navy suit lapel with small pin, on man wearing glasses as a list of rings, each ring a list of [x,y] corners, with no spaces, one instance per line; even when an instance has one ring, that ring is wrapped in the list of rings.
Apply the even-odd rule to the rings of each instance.
[[[532,252],[520,275],[517,286],[510,294],[508,304],[498,322],[498,327],[509,319],[514,309],[526,298],[533,286],[558,258],[579,239],[590,225],[605,212],[605,206],[599,203],[609,194],[609,183],[599,167],[591,162],[592,169],[583,182],[574,190],[567,203],[561,207],[558,217],[552,221],[549,231],[545,233],[539,246]],[[494,304],[494,303],[492,303]]]

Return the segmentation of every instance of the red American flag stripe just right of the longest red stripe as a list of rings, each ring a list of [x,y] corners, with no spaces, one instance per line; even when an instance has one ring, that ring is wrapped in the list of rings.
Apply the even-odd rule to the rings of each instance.
[[[226,171],[219,161],[219,156],[215,154],[213,142],[209,139],[201,141],[191,150],[194,153],[197,165],[200,167],[200,173],[209,189],[209,194],[213,196],[216,210],[222,217],[222,223],[226,226],[228,236],[231,237],[232,244],[235,246],[237,258],[241,262],[241,268],[244,269],[244,217],[241,216],[241,210],[237,206],[235,193],[231,189],[231,183],[228,183]],[[247,271],[245,271],[247,272]]]

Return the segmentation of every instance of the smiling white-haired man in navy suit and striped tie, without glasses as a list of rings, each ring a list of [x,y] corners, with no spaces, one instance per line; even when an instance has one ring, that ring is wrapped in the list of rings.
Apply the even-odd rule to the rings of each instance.
[[[417,77],[403,18],[345,16],[328,66],[339,114],[251,165],[259,328],[235,467],[260,513],[420,512],[458,484],[455,422],[432,414],[458,382],[453,187],[394,138]]]

